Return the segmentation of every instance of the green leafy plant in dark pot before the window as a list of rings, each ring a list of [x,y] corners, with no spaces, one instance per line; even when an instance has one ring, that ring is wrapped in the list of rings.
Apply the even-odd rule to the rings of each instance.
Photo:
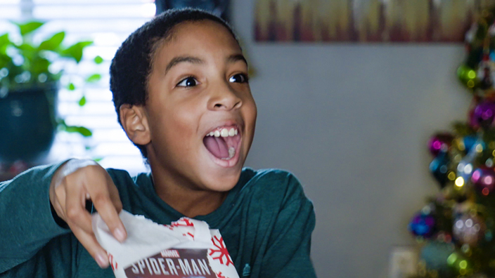
[[[68,126],[56,113],[56,98],[63,69],[54,62],[82,60],[84,48],[92,41],[78,41],[64,46],[65,32],[58,32],[38,44],[34,34],[44,22],[15,23],[16,34],[0,34],[0,161],[39,161],[50,150],[56,131],[91,136],[84,126]],[[103,59],[97,56],[94,62]],[[98,81],[100,74],[91,74],[87,82]],[[69,90],[75,85],[68,84]],[[79,105],[84,105],[84,96]]]

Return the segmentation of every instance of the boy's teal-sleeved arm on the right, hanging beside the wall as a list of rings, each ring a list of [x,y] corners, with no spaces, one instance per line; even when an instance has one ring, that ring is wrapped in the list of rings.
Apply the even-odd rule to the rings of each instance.
[[[288,181],[290,187],[271,231],[259,277],[316,277],[310,258],[313,204],[294,176]]]

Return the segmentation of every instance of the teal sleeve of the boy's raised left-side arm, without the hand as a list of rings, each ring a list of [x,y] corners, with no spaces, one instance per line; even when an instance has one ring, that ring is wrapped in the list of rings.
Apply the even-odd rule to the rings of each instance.
[[[35,167],[0,183],[0,273],[70,232],[57,225],[51,213],[49,187],[60,165]]]

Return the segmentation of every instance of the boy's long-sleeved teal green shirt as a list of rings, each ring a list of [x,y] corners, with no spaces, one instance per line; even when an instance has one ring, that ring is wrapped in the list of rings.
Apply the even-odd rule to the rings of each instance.
[[[0,277],[114,277],[53,219],[49,185],[58,166],[0,183]],[[160,224],[183,217],[158,197],[150,173],[107,171],[124,210]],[[224,203],[195,219],[219,229],[239,277],[316,277],[309,256],[314,209],[291,173],[244,168]]]

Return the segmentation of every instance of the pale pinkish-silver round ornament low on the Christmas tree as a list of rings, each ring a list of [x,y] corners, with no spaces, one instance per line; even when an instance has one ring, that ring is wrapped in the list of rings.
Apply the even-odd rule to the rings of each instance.
[[[454,238],[462,244],[476,246],[484,237],[485,225],[479,216],[463,213],[454,220],[452,232]]]

